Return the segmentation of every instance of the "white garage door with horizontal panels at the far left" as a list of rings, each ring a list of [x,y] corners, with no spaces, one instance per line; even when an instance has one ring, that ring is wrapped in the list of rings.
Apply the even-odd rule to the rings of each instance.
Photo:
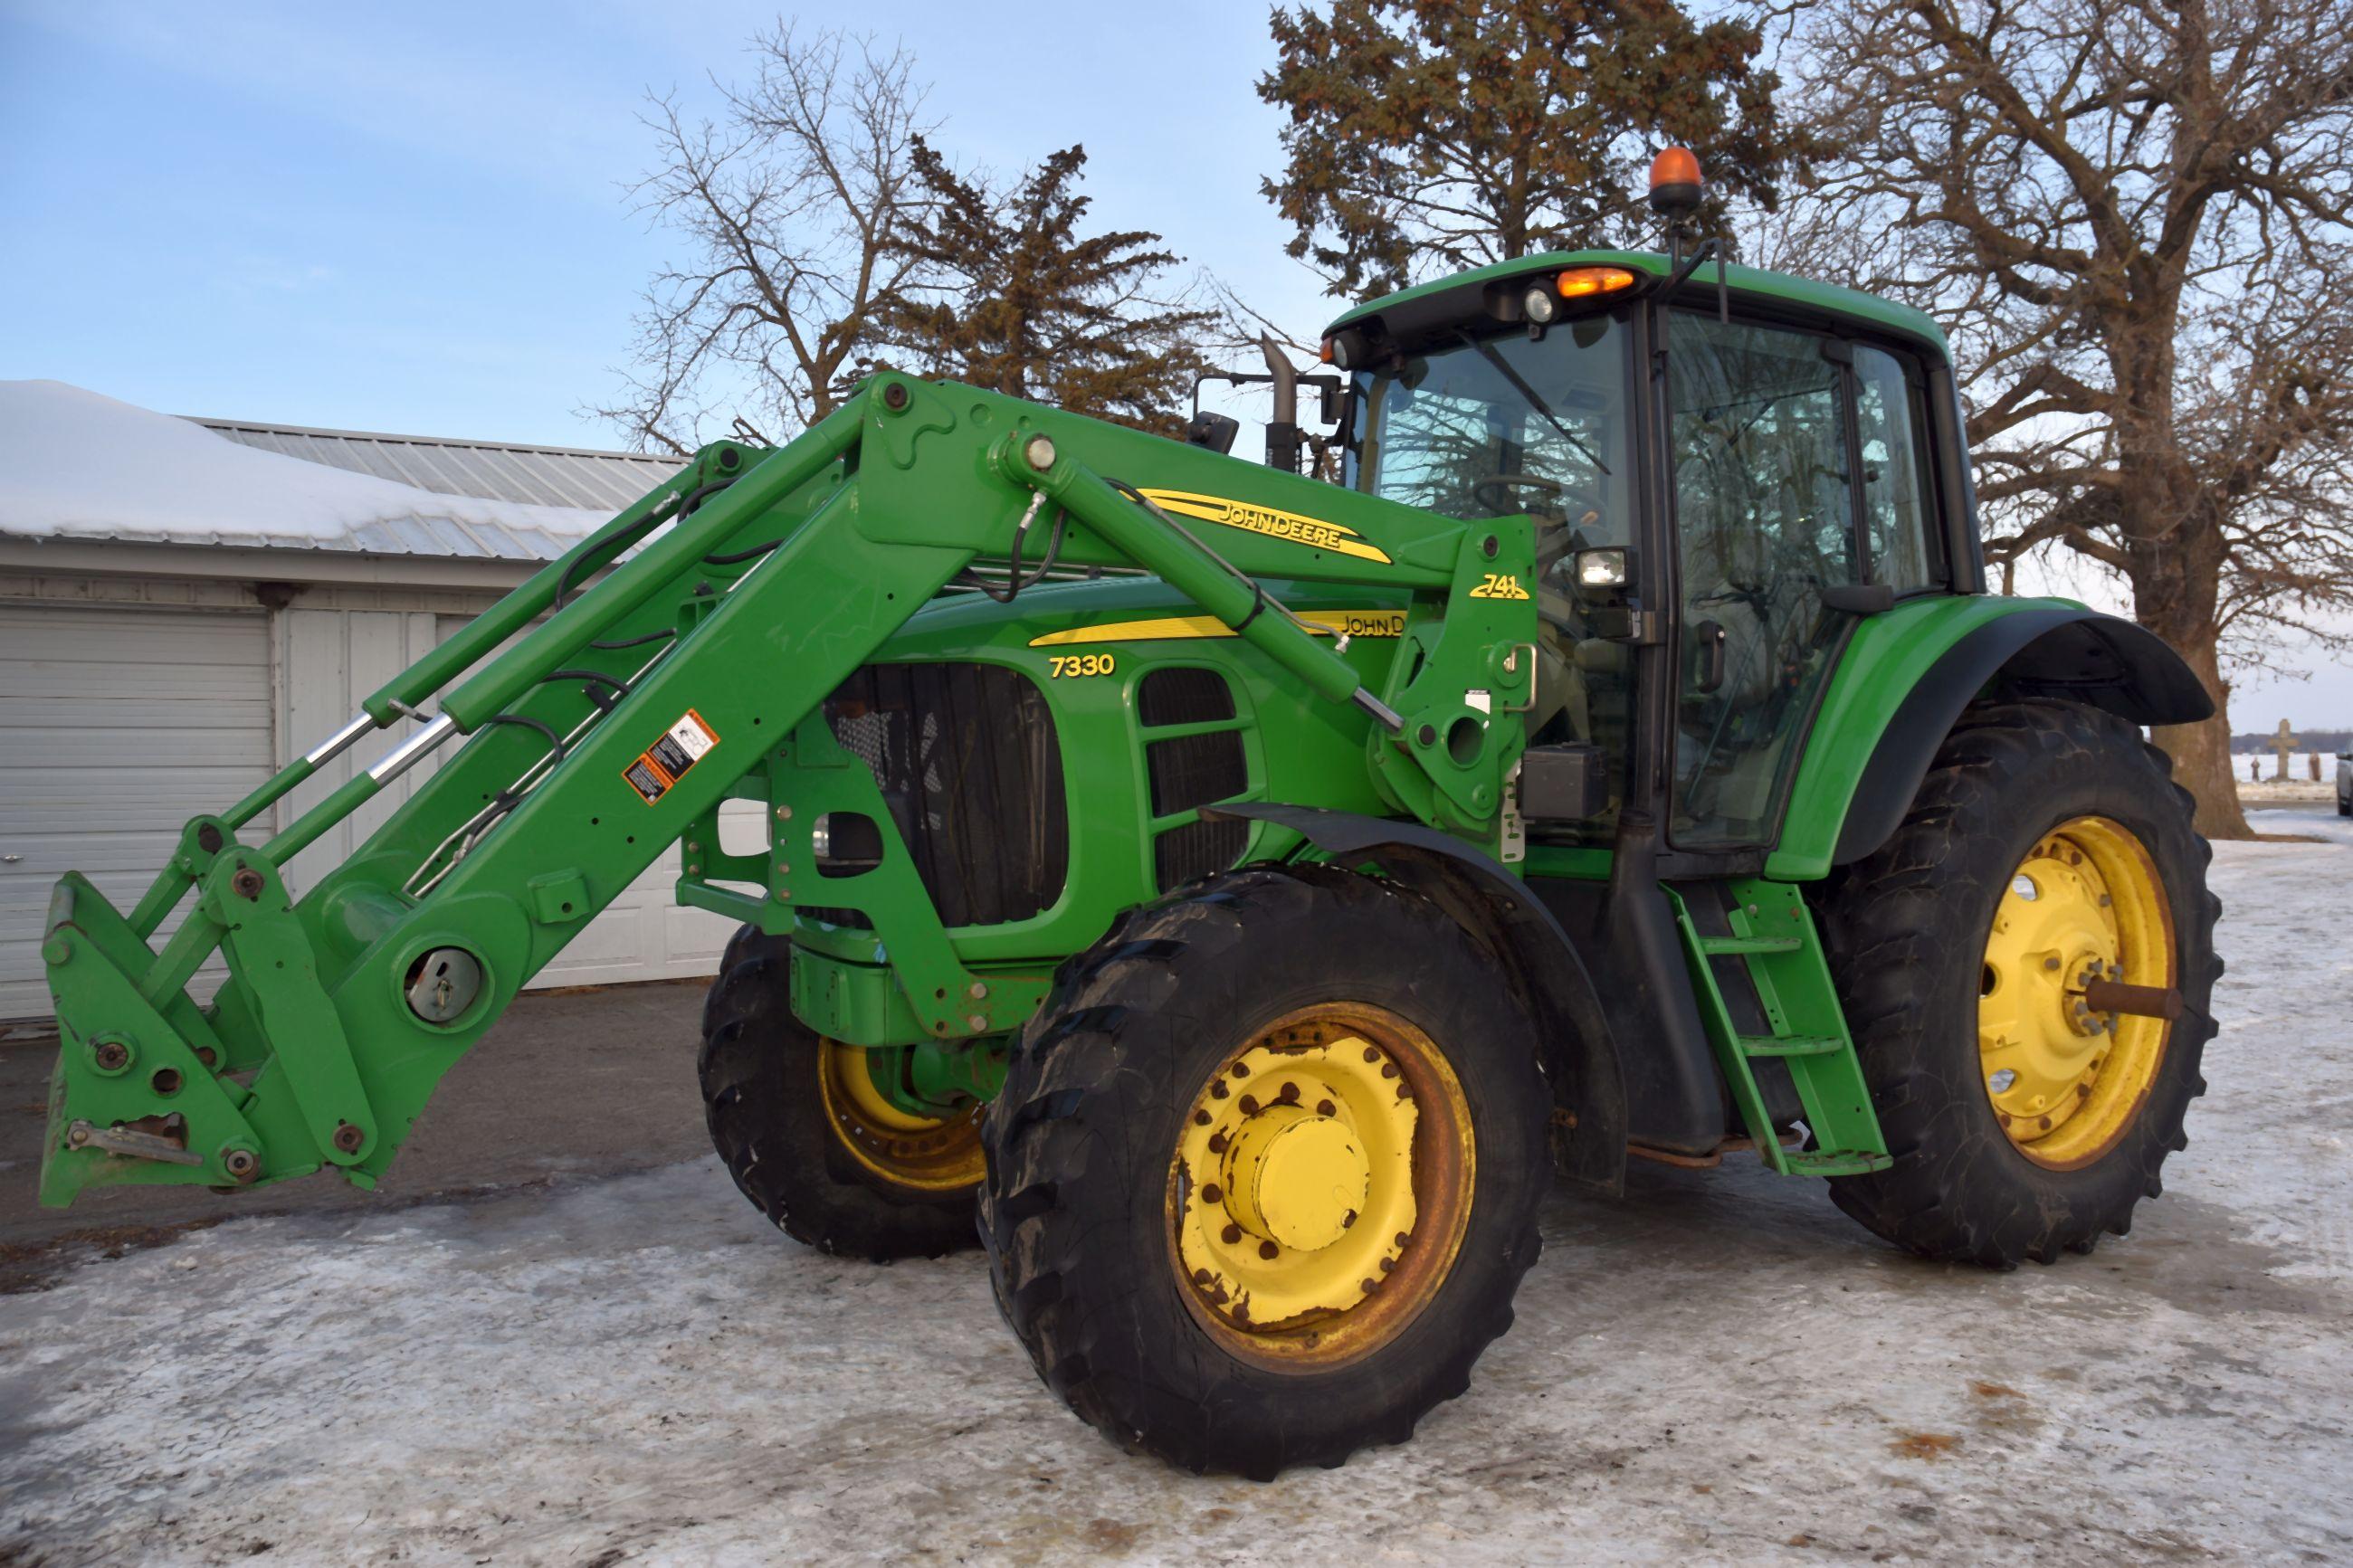
[[[49,884],[78,870],[127,914],[184,820],[271,776],[268,618],[0,607],[0,1018],[45,1018]]]

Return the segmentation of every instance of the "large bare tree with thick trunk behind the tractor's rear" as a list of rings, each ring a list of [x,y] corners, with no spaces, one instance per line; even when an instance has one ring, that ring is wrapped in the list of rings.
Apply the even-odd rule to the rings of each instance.
[[[1800,42],[1784,259],[1951,327],[1988,559],[2129,585],[2219,708],[2155,738],[2245,837],[2224,665],[2353,604],[2344,0],[1821,0]]]

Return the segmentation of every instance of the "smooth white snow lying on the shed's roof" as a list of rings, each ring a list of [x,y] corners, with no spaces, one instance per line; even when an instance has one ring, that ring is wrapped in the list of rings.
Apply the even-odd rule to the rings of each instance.
[[[553,559],[616,510],[400,484],[64,381],[0,381],[0,536]]]

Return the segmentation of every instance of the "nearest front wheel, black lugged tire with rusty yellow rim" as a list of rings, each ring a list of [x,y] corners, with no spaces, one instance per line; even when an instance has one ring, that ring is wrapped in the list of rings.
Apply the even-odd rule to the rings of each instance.
[[[1426,900],[1252,867],[1073,959],[984,1138],[998,1305],[1111,1439],[1266,1479],[1461,1394],[1537,1260],[1551,1095]]]

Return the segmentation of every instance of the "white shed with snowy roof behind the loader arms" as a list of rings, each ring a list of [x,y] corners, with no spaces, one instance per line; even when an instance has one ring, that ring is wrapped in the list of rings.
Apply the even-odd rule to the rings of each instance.
[[[671,473],[616,451],[184,421],[0,383],[0,1020],[49,1011],[38,945],[61,872],[129,907],[188,816],[339,729]],[[346,752],[275,825],[376,750]],[[296,891],[424,776],[304,851]],[[675,875],[673,853],[536,985],[711,973],[729,926],[675,907]]]

